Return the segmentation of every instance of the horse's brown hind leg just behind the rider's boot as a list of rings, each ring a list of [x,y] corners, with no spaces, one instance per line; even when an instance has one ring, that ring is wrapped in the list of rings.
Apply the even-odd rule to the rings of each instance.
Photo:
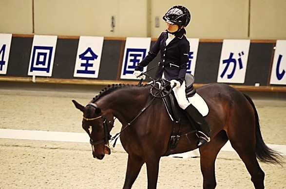
[[[220,149],[227,141],[228,137],[225,131],[221,131],[211,138],[210,143],[200,148],[200,165],[204,189],[214,189],[216,187],[214,163]]]

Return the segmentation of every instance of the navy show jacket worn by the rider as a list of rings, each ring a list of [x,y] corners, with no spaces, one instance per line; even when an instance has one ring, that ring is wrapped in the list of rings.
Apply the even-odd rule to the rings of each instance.
[[[187,63],[189,62],[190,42],[183,34],[181,37],[175,37],[166,46],[168,38],[167,32],[162,32],[157,41],[151,48],[148,55],[135,67],[134,70],[142,71],[160,51],[161,57],[158,63],[158,69],[155,74],[155,80],[162,78],[163,72],[166,80],[177,80],[180,84],[185,80],[187,72]]]

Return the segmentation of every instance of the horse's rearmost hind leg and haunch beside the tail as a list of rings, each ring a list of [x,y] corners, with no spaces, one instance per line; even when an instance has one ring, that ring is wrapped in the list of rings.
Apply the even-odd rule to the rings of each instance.
[[[248,102],[241,101],[239,106],[231,108],[229,115],[236,116],[229,116],[227,134],[232,148],[246,165],[255,189],[264,189],[265,173],[260,168],[255,153],[255,130],[259,129],[259,121],[256,117],[258,115],[255,115],[254,104],[252,107],[249,106],[251,105]]]

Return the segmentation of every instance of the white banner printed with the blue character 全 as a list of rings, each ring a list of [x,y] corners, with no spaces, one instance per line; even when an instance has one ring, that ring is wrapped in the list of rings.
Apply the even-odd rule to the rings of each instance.
[[[74,77],[98,77],[103,41],[104,37],[79,37]]]

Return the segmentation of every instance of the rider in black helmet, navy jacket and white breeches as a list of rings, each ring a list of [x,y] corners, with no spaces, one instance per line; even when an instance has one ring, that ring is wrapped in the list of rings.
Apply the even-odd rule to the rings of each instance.
[[[148,55],[135,67],[133,74],[139,78],[145,78],[145,75],[141,75],[143,67],[147,66],[160,51],[161,58],[155,79],[166,79],[170,81],[171,86],[175,85],[173,91],[179,106],[199,125],[197,147],[201,147],[210,141],[210,127],[201,113],[186,98],[185,91],[185,76],[190,52],[185,27],[191,21],[191,13],[186,7],[176,5],[167,11],[163,19],[167,23],[166,32],[160,34]]]

